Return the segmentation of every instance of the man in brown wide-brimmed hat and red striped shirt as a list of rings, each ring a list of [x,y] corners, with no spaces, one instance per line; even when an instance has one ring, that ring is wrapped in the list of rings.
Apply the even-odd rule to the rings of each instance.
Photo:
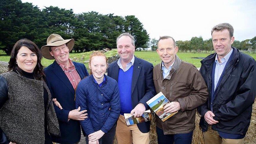
[[[61,144],[78,143],[81,137],[79,121],[87,118],[86,110],[80,111],[80,107],[75,108],[75,88],[89,73],[84,64],[69,59],[69,52],[74,45],[74,39],[64,40],[59,34],[51,34],[47,39],[47,45],[41,48],[45,58],[55,59],[44,71],[51,95],[63,108],[54,106],[61,136],[51,136],[53,142]]]

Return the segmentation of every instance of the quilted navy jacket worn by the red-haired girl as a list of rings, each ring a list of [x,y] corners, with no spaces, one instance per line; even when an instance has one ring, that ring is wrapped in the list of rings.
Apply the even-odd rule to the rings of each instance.
[[[87,110],[88,118],[80,121],[86,135],[98,130],[108,133],[120,113],[120,97],[116,80],[105,75],[99,87],[93,75],[81,80],[76,89],[76,108]]]

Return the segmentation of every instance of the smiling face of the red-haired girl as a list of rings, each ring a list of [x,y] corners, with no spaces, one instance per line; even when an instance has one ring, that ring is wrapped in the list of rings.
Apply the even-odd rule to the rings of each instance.
[[[89,63],[94,79],[101,83],[104,80],[104,74],[107,69],[107,61],[105,56],[93,56]]]

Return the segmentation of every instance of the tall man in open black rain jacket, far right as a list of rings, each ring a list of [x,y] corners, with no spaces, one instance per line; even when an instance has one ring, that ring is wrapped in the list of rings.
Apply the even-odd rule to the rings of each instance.
[[[233,27],[221,23],[211,31],[216,53],[201,61],[200,72],[209,99],[198,107],[206,144],[242,144],[248,130],[256,95],[256,62],[238,49]]]

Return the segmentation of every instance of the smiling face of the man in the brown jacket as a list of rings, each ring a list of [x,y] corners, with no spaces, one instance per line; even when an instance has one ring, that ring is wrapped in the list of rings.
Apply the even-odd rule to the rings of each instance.
[[[178,47],[174,45],[173,39],[161,39],[158,42],[157,53],[160,59],[164,62],[166,68],[169,68],[175,61],[175,54],[178,52]]]

